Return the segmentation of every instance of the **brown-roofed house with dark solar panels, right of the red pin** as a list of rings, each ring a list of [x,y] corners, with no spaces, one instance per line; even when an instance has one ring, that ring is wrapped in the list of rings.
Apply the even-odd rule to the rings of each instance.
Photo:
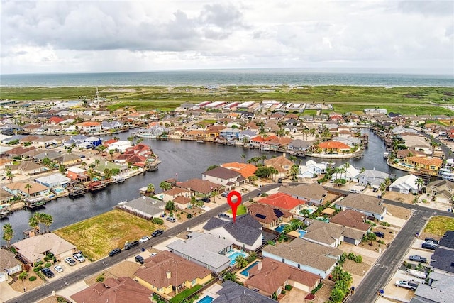
[[[253,203],[248,206],[248,214],[262,224],[263,227],[274,229],[282,222],[289,222],[293,214],[289,211],[280,210],[267,204]]]

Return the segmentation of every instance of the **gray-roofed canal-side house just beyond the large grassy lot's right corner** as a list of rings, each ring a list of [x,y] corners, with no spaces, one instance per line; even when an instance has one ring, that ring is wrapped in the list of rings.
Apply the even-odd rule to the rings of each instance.
[[[120,202],[118,208],[131,211],[133,214],[146,219],[152,219],[164,214],[165,202],[143,196],[126,203]]]

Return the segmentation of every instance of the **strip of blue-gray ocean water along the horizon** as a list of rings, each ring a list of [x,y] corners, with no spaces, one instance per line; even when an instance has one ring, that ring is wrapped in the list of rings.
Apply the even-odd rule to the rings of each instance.
[[[371,87],[454,87],[454,76],[389,70],[169,70],[0,75],[1,87],[347,85]]]

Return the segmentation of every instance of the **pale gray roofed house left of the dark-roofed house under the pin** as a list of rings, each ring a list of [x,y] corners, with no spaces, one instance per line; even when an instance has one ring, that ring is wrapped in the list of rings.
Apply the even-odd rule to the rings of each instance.
[[[167,245],[171,253],[197,263],[214,272],[229,267],[231,260],[226,256],[233,248],[233,241],[210,233],[189,233],[188,239],[177,240]]]

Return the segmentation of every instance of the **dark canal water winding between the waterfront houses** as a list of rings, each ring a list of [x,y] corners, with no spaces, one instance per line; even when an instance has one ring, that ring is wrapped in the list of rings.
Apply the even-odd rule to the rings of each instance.
[[[375,136],[374,133],[365,129],[369,133],[369,147],[365,150],[362,158],[350,159],[350,164],[354,167],[365,167],[366,169],[376,169],[384,172],[396,174],[398,177],[404,172],[394,170],[386,165],[383,158],[384,144]],[[126,140],[131,133],[121,133],[116,135]],[[103,137],[104,140],[108,137]],[[201,178],[201,173],[206,171],[210,165],[220,165],[223,162],[241,162],[241,155],[245,154],[245,161],[260,155],[282,155],[282,153],[263,152],[256,149],[243,147],[218,145],[216,143],[196,143],[195,141],[156,141],[145,139],[143,143],[148,144],[162,163],[155,172],[145,172],[126,180],[121,184],[111,184],[106,189],[99,192],[87,192],[82,197],[70,199],[60,198],[48,202],[45,208],[34,211],[45,212],[53,216],[54,223],[50,226],[51,230],[73,224],[77,221],[102,214],[110,211],[118,202],[128,201],[140,197],[138,189],[153,183],[160,192],[160,182],[162,180],[177,178],[179,181],[186,181],[192,178]],[[301,158],[301,164],[311,158]],[[313,158],[317,162],[321,159]],[[341,165],[346,160],[335,160],[336,165]],[[19,210],[9,215],[8,219],[0,221],[1,226],[10,223],[13,226],[15,236],[13,242],[23,238],[23,232],[29,229],[28,219],[34,211]],[[2,230],[1,230],[2,231]],[[1,240],[1,244],[5,242]]]

